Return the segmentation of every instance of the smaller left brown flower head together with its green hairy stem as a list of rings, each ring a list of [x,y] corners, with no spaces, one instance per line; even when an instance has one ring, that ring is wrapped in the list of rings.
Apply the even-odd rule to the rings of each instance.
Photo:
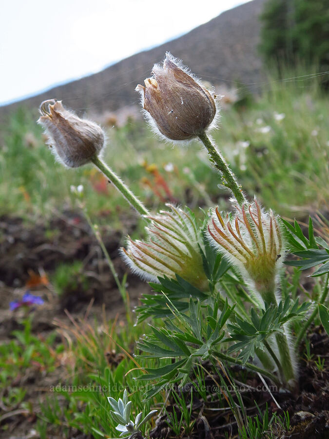
[[[140,215],[149,214],[133,192],[100,159],[105,134],[95,122],[79,118],[64,108],[60,100],[45,100],[39,111],[38,123],[45,129],[47,143],[60,163],[70,168],[94,163]]]

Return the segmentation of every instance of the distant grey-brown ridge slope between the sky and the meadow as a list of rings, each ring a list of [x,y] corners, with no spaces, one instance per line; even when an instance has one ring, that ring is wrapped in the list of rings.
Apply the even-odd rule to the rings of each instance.
[[[36,109],[42,100],[50,98],[62,99],[66,106],[78,111],[93,113],[136,104],[139,97],[135,86],[150,75],[154,63],[161,62],[166,51],[182,59],[202,80],[228,85],[236,80],[247,84],[260,82],[258,17],[265,1],[249,1],[182,37],[119,61],[99,73],[0,107],[0,119],[19,106]]]

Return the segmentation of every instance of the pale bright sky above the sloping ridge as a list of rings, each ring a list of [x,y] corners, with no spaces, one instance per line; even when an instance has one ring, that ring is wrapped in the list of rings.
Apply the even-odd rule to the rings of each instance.
[[[102,70],[243,0],[5,0],[0,105]]]

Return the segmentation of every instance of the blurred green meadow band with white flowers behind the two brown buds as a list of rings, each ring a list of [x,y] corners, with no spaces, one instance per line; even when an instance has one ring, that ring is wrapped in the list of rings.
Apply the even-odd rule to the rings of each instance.
[[[302,218],[323,210],[329,196],[328,95],[311,75],[287,71],[284,78],[294,79],[272,78],[258,96],[243,88],[235,98],[225,96],[212,136],[250,197],[256,194],[281,215]],[[108,120],[106,132],[105,160],[149,208],[165,201],[192,208],[227,206],[229,194],[218,187],[200,142],[173,147],[143,120],[132,118],[123,126]],[[65,169],[55,162],[31,110],[20,108],[11,117],[1,142],[2,215],[49,218],[54,209],[74,207],[70,186],[78,184],[93,217],[120,227],[120,217],[132,214],[91,165]]]

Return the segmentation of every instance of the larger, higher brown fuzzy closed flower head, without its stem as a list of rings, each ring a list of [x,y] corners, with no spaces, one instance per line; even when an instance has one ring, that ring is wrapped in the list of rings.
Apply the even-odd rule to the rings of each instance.
[[[163,67],[155,64],[153,77],[137,85],[151,124],[167,139],[190,140],[212,123],[216,104],[210,92],[169,53]]]

